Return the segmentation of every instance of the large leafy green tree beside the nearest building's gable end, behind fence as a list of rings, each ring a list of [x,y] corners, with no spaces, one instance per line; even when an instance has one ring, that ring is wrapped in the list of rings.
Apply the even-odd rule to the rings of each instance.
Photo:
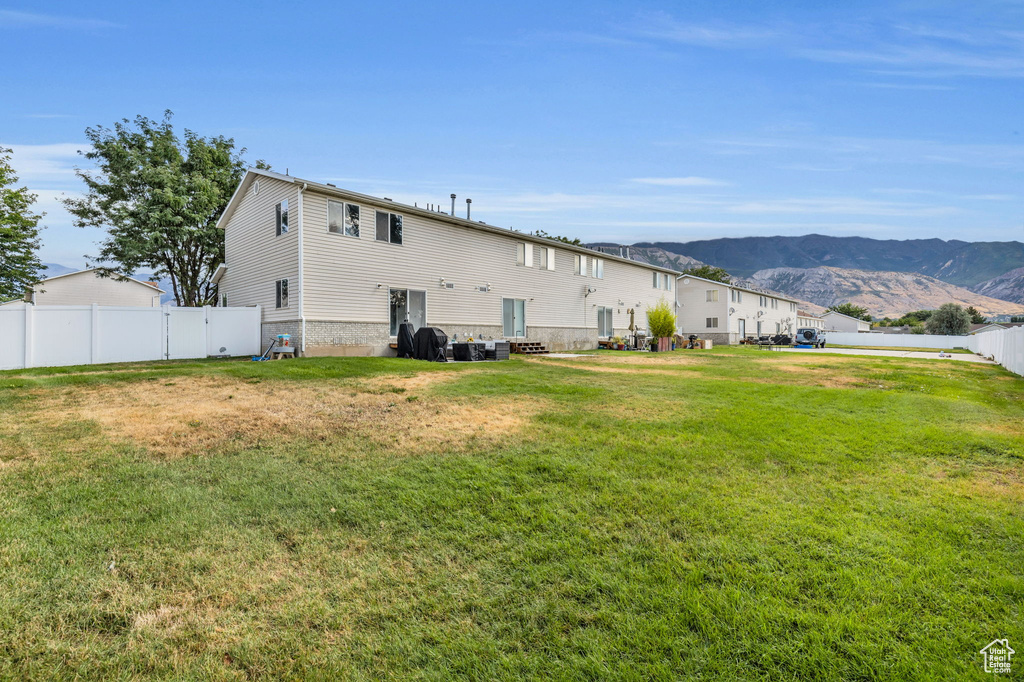
[[[86,128],[92,148],[83,156],[96,169],[76,171],[88,193],[65,206],[79,227],[106,228],[100,274],[145,267],[171,281],[178,305],[207,305],[216,301],[210,278],[224,258],[216,222],[242,178],[245,150],[229,137],[187,129],[181,139],[171,116]]]

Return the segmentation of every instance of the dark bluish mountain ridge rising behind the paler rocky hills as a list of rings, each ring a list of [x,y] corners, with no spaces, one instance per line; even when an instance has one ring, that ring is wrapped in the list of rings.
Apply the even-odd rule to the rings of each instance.
[[[749,278],[773,267],[819,266],[920,272],[958,287],[974,287],[1024,267],[1020,242],[874,240],[866,237],[741,237],[695,242],[641,242],[638,253],[658,249]]]

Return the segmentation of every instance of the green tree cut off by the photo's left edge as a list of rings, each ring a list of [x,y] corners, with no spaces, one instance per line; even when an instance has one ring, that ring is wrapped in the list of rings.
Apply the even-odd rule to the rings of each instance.
[[[36,195],[15,188],[11,151],[0,147],[0,301],[19,298],[39,282],[39,220],[31,211]]]

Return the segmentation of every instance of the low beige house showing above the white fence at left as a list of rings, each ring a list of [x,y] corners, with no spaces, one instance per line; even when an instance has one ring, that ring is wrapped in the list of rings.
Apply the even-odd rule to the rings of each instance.
[[[5,305],[120,305],[158,307],[163,290],[157,285],[126,278],[101,278],[97,268],[58,274],[39,282],[26,293],[24,301]]]

